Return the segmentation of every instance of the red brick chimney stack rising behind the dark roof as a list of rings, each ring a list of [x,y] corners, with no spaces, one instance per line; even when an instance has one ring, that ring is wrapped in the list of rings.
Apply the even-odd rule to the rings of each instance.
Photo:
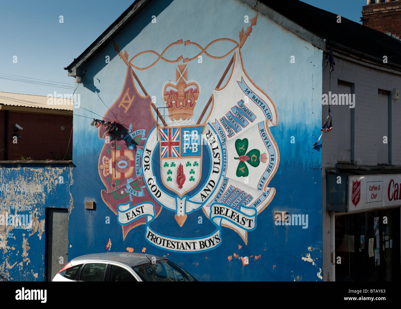
[[[362,24],[391,35],[401,37],[401,0],[367,0],[362,7]]]

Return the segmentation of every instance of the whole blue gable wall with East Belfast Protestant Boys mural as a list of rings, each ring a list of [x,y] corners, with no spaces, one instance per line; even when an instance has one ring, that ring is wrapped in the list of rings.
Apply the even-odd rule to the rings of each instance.
[[[75,84],[69,258],[145,252],[198,280],[321,280],[321,65],[242,2],[152,1]]]

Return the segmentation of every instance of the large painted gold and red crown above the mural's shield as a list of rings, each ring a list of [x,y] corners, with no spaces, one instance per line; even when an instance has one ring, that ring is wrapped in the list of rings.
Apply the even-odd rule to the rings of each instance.
[[[187,82],[188,69],[186,64],[179,64],[178,70],[176,69],[177,84],[168,82],[163,88],[164,102],[168,107],[168,115],[171,121],[191,119],[199,96],[199,85],[193,81]]]

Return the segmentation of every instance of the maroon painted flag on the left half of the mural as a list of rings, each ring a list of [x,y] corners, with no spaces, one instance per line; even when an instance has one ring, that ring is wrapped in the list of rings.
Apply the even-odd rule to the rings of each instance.
[[[99,176],[106,187],[101,191],[101,196],[116,215],[121,209],[130,209],[127,205],[148,201],[154,203],[156,216],[161,211],[148,190],[144,190],[146,187],[140,163],[144,142],[154,127],[154,123],[149,121],[150,104],[150,96],[144,97],[138,93],[133,70],[128,64],[122,92],[103,117],[115,121],[102,120],[96,125],[99,127],[99,138],[104,140],[98,164]],[[146,216],[134,217],[134,210],[128,213],[130,220],[122,224],[124,238],[130,229],[146,223]],[[127,219],[127,215],[124,217]]]

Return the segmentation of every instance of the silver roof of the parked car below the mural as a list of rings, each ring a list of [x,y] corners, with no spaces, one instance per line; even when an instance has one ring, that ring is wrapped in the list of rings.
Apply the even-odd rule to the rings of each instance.
[[[94,253],[94,254],[86,254],[83,256],[78,256],[77,258],[73,258],[75,263],[85,263],[88,261],[108,261],[108,262],[122,262],[128,264],[130,266],[138,266],[145,263],[151,262],[152,258],[155,257],[157,260],[165,260],[160,256],[155,256],[152,254],[144,254],[144,253],[129,253],[129,252],[105,252],[105,253]]]

